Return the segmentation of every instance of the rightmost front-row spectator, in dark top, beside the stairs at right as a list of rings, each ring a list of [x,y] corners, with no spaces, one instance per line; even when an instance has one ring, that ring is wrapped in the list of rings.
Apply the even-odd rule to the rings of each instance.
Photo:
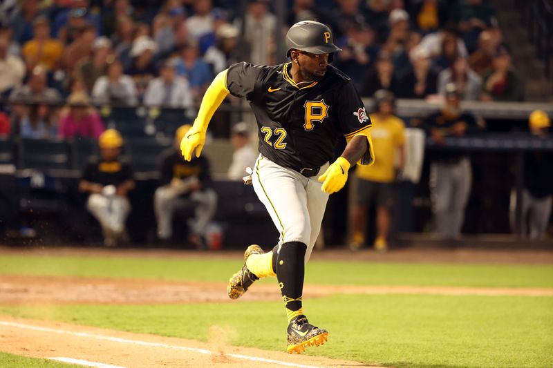
[[[521,91],[518,76],[511,64],[511,55],[501,46],[492,61],[491,69],[482,73],[481,101],[519,101]]]

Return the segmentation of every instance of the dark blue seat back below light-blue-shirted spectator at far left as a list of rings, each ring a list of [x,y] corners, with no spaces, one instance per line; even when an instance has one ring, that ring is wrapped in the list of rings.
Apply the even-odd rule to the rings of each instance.
[[[63,139],[21,139],[19,168],[39,170],[71,168],[69,144]]]

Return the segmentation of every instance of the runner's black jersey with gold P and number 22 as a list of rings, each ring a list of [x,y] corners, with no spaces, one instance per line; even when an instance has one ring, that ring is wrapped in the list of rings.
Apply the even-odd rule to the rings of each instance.
[[[250,101],[259,127],[259,152],[299,171],[331,162],[337,137],[351,137],[370,127],[371,120],[344,73],[328,66],[321,81],[297,85],[290,65],[234,64],[226,84],[232,95]]]

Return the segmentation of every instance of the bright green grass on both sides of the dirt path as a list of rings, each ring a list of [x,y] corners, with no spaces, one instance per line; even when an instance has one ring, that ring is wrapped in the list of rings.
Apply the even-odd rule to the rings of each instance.
[[[239,265],[238,258],[0,255],[0,278],[8,274],[77,275],[225,282]],[[308,264],[306,282],[553,287],[553,267],[314,261]],[[328,343],[311,349],[308,354],[312,355],[398,368],[553,367],[551,297],[338,294],[306,300],[304,310],[312,322],[330,331]],[[198,304],[0,306],[0,314],[202,341],[207,340],[209,327],[218,325],[227,331],[232,345],[285,349],[281,302],[207,303],[201,308]],[[3,359],[0,355],[0,362]]]

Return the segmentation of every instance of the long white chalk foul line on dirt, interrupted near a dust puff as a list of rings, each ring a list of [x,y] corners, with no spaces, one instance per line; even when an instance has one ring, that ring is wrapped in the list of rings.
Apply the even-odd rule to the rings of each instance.
[[[147,342],[147,341],[140,341],[140,340],[130,340],[130,339],[126,339],[126,338],[115,338],[113,336],[103,336],[103,335],[97,335],[95,333],[87,333],[87,332],[67,331],[67,330],[63,330],[63,329],[50,329],[48,327],[38,327],[38,326],[32,326],[32,325],[25,325],[23,323],[17,323],[17,322],[0,321],[0,325],[11,326],[11,327],[19,327],[20,329],[30,329],[30,330],[34,330],[34,331],[52,332],[52,333],[59,333],[59,334],[64,334],[64,335],[73,335],[73,336],[79,336],[79,337],[82,337],[82,338],[93,338],[93,339],[96,339],[96,340],[123,342],[125,344],[134,344],[134,345],[141,345],[141,346],[147,346],[147,347],[165,347],[167,349],[193,351],[193,352],[199,353],[199,354],[214,354],[211,350],[199,349],[199,348],[195,348],[195,347],[184,347],[184,346],[180,346],[180,345],[162,344],[161,342]],[[237,359],[251,360],[253,362],[272,363],[272,364],[275,364],[275,365],[285,365],[285,366],[288,366],[288,367],[321,368],[321,367],[317,367],[315,365],[303,365],[303,364],[297,364],[297,363],[291,363],[291,362],[283,362],[281,360],[265,359],[265,358],[259,358],[259,357],[256,357],[256,356],[245,356],[245,355],[241,355],[241,354],[226,354],[226,355],[227,356],[232,356],[233,358],[237,358]]]

